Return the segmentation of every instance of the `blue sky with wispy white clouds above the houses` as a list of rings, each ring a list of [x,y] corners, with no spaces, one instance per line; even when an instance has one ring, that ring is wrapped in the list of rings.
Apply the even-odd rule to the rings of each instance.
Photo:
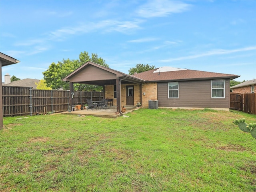
[[[256,0],[1,0],[2,68],[42,79],[52,62],[98,54],[127,73],[136,64],[256,78]]]

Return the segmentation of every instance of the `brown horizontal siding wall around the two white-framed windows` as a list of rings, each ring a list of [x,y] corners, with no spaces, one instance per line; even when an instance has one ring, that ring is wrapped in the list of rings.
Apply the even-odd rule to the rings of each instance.
[[[158,83],[158,105],[162,107],[229,108],[229,80],[225,98],[211,98],[211,80],[179,82],[179,98],[168,98],[168,82]]]

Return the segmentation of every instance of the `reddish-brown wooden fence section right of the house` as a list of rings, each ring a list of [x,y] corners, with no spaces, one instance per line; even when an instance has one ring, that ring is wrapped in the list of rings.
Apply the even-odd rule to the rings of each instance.
[[[230,93],[230,109],[256,114],[256,94]]]

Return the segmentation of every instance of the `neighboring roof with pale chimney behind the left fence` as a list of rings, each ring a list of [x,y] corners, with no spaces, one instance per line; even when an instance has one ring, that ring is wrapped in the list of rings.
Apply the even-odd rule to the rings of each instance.
[[[16,86],[16,87],[32,87],[33,89],[36,89],[36,83],[39,83],[39,79],[21,79],[17,81],[12,81],[11,82],[11,76],[7,73],[4,76],[4,83],[2,85],[4,86]]]

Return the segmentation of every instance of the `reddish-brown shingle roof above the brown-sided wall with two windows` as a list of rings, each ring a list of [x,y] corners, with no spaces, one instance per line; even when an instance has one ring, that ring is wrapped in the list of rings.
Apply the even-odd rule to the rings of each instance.
[[[170,68],[162,67],[157,69],[152,69],[149,71],[134,74],[133,76],[144,79],[148,82],[164,82],[164,81],[174,81],[174,80],[203,80],[203,79],[219,79],[219,78],[238,78],[238,75],[223,74],[215,72],[205,72],[198,70],[189,70],[181,68]]]

